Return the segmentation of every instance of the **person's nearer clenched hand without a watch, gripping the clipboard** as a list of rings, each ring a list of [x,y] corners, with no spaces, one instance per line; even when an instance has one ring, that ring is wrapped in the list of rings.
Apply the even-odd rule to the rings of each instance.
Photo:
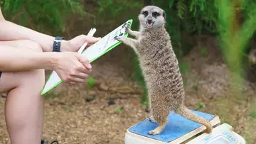
[[[87,58],[78,52],[56,52],[53,70],[63,82],[77,84],[85,82],[92,66]]]

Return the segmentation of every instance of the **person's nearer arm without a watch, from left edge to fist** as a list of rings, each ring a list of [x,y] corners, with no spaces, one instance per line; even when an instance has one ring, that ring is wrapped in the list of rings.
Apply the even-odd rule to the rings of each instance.
[[[22,53],[22,55],[21,55]],[[32,52],[0,45],[0,71],[55,70],[63,82],[84,82],[92,66],[78,52]]]

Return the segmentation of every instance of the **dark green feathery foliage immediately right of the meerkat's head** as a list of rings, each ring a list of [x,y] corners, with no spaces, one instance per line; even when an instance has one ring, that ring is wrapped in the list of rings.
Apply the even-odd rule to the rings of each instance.
[[[152,5],[159,6],[166,12],[166,29],[171,35],[178,57],[190,49],[183,47],[182,33],[217,33],[218,11],[214,0],[152,0]]]

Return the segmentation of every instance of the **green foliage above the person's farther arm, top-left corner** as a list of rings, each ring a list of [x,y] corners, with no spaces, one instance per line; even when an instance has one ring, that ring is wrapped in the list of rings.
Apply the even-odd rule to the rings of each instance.
[[[85,15],[81,0],[0,0],[0,4],[7,20],[41,32],[63,33],[71,16]]]

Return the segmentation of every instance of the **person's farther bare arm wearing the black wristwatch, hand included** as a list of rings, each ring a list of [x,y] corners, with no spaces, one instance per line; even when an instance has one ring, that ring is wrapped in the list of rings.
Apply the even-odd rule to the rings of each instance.
[[[53,40],[55,37],[33,31],[30,28],[19,26],[16,23],[6,21],[4,16],[1,13],[0,8],[0,41],[6,40],[32,40],[43,49],[43,52],[53,51]],[[78,49],[82,46],[83,43],[95,43],[100,38],[94,38],[87,35],[78,35],[77,37],[71,40],[62,40],[60,51],[72,51],[78,52]]]

